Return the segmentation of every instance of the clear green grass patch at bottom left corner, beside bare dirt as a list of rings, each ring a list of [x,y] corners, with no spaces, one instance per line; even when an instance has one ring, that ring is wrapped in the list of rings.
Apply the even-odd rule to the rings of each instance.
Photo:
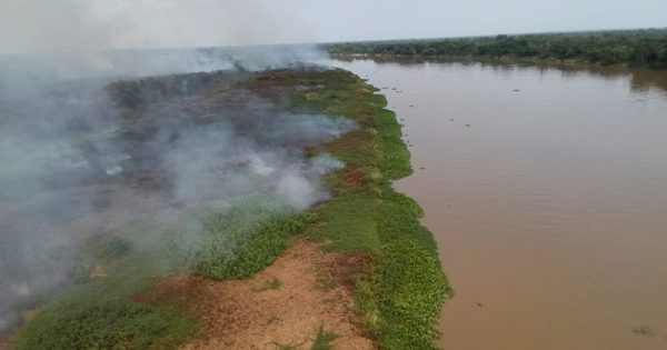
[[[21,331],[18,349],[170,349],[198,332],[177,308],[125,298],[67,298],[42,310]]]

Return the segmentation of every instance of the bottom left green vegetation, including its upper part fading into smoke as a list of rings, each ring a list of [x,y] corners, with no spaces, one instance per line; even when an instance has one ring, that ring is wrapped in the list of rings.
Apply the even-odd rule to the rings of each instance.
[[[128,270],[126,264],[138,268]],[[109,264],[106,273],[76,284],[36,312],[19,331],[14,347],[171,349],[199,333],[197,319],[183,313],[181,306],[136,300],[155,282],[143,257],[125,256]]]

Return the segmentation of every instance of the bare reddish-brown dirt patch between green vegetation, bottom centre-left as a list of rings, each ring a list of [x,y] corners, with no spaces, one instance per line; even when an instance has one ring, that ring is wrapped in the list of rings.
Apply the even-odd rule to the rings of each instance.
[[[375,349],[359,327],[351,292],[359,257],[325,253],[297,239],[250,280],[168,280],[143,298],[178,298],[201,318],[205,337],[183,349],[310,349],[318,330],[336,333],[332,349]]]

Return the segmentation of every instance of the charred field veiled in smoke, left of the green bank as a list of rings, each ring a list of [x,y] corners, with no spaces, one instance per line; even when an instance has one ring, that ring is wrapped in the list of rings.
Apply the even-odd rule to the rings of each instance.
[[[287,91],[260,88],[260,78],[228,71],[57,86],[30,97],[37,103],[12,101],[0,150],[0,324],[81,279],[94,246],[150,250],[157,267],[197,264],[203,247],[231,253],[256,226],[328,199],[319,177],[344,163],[306,150],[357,124],[288,112]],[[206,226],[230,216],[238,232],[210,241]],[[203,218],[179,227],[193,217]],[[140,226],[166,228],[123,233]]]

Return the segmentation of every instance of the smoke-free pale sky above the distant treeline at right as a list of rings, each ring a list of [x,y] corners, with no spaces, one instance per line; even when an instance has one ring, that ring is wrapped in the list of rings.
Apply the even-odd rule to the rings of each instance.
[[[667,27],[667,0],[293,2],[322,41]]]

